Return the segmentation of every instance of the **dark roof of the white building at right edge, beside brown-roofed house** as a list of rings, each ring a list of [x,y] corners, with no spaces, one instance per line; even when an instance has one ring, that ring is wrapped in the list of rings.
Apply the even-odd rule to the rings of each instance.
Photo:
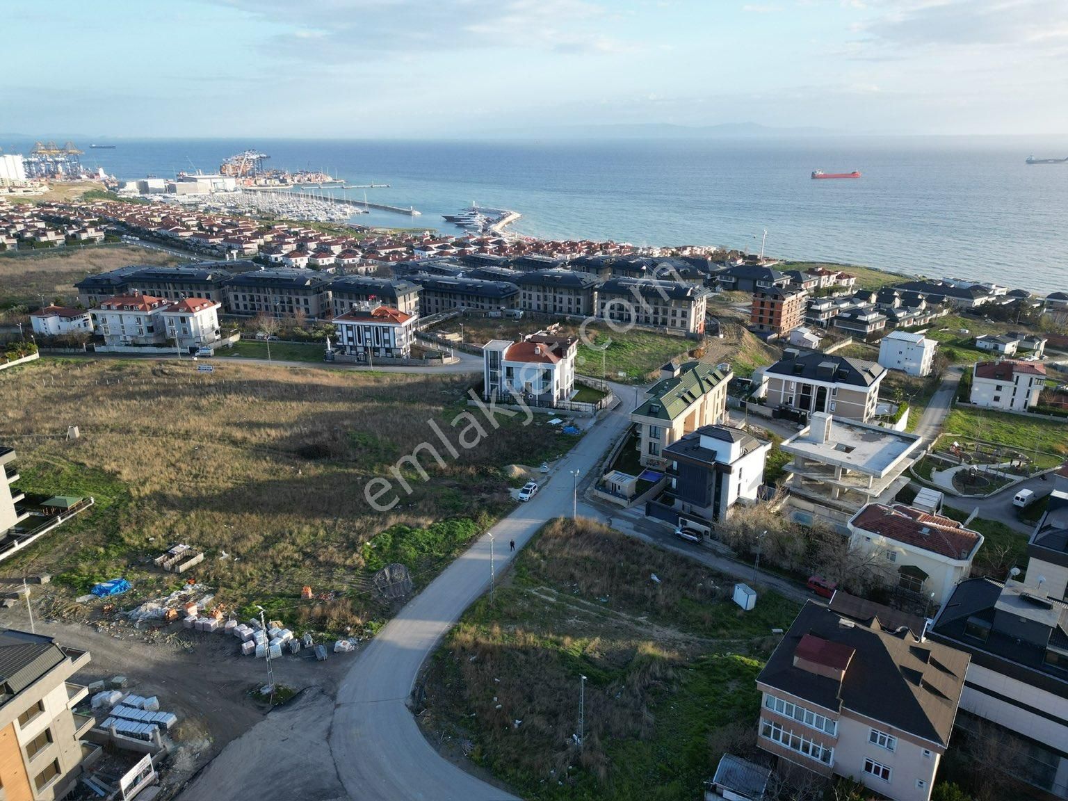
[[[1025,628],[1016,624],[1016,617],[999,619],[995,615],[995,606],[1004,586],[1003,582],[990,578],[965,579],[958,583],[931,626],[930,639],[970,653],[972,661],[981,668],[1068,698],[1068,671],[1047,664],[1045,647],[1028,642],[1025,635],[1025,632],[1039,624]],[[1050,640],[1056,634],[1055,642],[1063,642],[1068,637],[1064,625],[1068,616],[1068,604],[1053,598],[1049,599],[1049,603],[1054,610],[1061,610],[1062,623],[1055,628],[1041,628]],[[986,642],[964,634],[969,618],[990,625]],[[1002,619],[1011,624],[1011,627],[1003,628],[999,625]]]

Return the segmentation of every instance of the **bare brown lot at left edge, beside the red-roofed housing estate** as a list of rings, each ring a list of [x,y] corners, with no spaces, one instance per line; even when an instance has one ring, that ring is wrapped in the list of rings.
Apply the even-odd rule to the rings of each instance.
[[[69,246],[47,251],[0,253],[0,308],[40,305],[42,295],[47,303],[56,298],[73,303],[78,299],[75,282],[88,274],[129,264],[171,265],[187,261],[134,245]]]

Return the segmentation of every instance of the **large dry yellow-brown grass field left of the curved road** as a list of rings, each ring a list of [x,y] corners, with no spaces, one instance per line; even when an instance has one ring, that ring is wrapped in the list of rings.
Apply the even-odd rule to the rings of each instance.
[[[0,443],[18,452],[27,492],[92,494],[97,507],[4,564],[46,569],[72,593],[126,576],[138,594],[175,583],[151,557],[175,543],[208,549],[199,581],[219,599],[268,608],[298,603],[302,585],[335,592],[303,609],[324,627],[381,614],[367,592],[361,545],[395,524],[410,527],[420,571],[440,568],[464,541],[509,507],[503,467],[537,464],[574,442],[535,420],[501,422],[453,461],[434,438],[435,419],[468,407],[464,376],[405,376],[289,370],[238,363],[198,373],[190,362],[42,359],[0,374]],[[475,412],[481,413],[481,412]],[[483,421],[485,423],[485,420]],[[65,439],[68,425],[81,436]],[[566,440],[566,441],[565,441]],[[407,471],[412,493],[374,512],[364,485],[421,442],[436,443],[429,481]],[[435,521],[465,521],[442,537]],[[394,539],[398,536],[394,534]],[[421,550],[422,549],[422,550]]]

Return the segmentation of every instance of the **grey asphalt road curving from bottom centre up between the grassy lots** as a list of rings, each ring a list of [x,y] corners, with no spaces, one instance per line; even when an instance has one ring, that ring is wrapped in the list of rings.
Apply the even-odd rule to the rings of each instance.
[[[498,571],[511,562],[508,540],[522,548],[541,524],[571,514],[575,481],[584,480],[629,421],[632,388],[613,386],[621,403],[553,470],[533,500],[493,527]],[[490,538],[483,535],[390,621],[359,656],[337,691],[330,750],[352,799],[499,801],[514,796],[442,758],[407,706],[420,668],[442,637],[489,586]]]

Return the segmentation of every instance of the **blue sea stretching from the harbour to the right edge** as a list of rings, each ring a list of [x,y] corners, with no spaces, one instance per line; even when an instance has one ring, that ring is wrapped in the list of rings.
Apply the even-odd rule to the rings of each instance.
[[[105,140],[100,140],[101,142]],[[374,225],[450,229],[442,214],[476,202],[511,208],[519,233],[635,245],[719,245],[775,256],[926,276],[1068,289],[1068,156],[1023,138],[812,138],[424,142],[110,140],[83,161],[120,178],[215,172],[254,147],[269,167],[325,170],[372,202],[413,205]],[[3,143],[15,145],[22,143]],[[80,142],[88,145],[88,142]],[[9,148],[12,152],[15,148]],[[17,150],[15,150],[17,152]],[[810,173],[860,170],[857,180]],[[348,190],[361,199],[364,190]]]

